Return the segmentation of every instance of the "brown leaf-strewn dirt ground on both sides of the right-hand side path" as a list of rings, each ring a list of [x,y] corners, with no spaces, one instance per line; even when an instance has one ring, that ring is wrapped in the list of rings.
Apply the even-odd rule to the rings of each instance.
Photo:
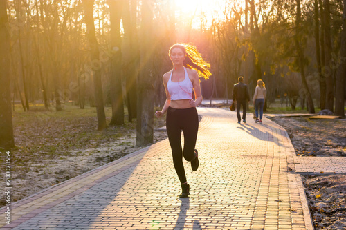
[[[274,117],[286,129],[296,155],[346,156],[346,119],[309,120]],[[304,175],[305,193],[315,229],[346,229],[346,175]]]

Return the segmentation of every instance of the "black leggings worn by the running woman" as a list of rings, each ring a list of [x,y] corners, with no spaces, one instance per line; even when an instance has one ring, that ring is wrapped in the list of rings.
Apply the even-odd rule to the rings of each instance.
[[[198,114],[195,107],[171,108],[168,107],[166,127],[168,140],[172,148],[173,163],[181,184],[186,182],[183,166],[185,160],[194,160],[194,146],[198,132]],[[181,147],[181,131],[184,133],[184,151]]]

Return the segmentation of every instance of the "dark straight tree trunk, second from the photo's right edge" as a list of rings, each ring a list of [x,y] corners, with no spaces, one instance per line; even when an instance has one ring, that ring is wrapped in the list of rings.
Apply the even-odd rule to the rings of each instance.
[[[326,83],[326,108],[334,111],[334,79],[331,69],[331,31],[329,0],[323,1],[325,6],[325,83]]]

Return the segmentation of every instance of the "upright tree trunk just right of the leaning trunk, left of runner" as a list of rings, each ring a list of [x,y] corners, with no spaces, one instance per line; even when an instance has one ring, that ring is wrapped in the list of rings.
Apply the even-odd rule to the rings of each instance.
[[[122,1],[108,1],[111,15],[111,122],[110,125],[124,124],[124,102],[121,87],[121,37],[120,19]]]

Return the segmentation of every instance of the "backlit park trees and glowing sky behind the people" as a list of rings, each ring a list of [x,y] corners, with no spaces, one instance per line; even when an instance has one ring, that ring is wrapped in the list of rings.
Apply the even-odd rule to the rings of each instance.
[[[197,46],[212,68],[205,99],[230,98],[244,76],[266,105],[345,115],[345,1],[1,1],[1,146],[15,146],[12,111],[96,108],[99,131],[136,119],[137,144],[153,142],[154,107],[176,42]],[[343,15],[344,14],[344,15]],[[11,105],[12,102],[12,105]],[[288,103],[289,102],[289,103]],[[107,124],[104,107],[111,107]],[[42,107],[42,106],[41,106]],[[55,109],[54,109],[55,108]]]

